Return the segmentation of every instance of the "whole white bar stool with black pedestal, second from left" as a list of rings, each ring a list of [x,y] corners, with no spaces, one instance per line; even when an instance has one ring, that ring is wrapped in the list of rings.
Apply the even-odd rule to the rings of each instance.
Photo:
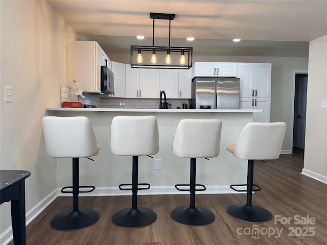
[[[159,151],[159,134],[155,116],[115,116],[111,123],[111,152],[118,156],[133,156],[132,184],[121,184],[121,190],[132,190],[132,207],[112,215],[112,222],[125,228],[139,228],[157,219],[154,211],[137,207],[137,190],[149,189],[150,184],[138,183],[138,156],[149,156]],[[147,187],[139,188],[138,185]],[[132,186],[123,188],[122,186]]]

